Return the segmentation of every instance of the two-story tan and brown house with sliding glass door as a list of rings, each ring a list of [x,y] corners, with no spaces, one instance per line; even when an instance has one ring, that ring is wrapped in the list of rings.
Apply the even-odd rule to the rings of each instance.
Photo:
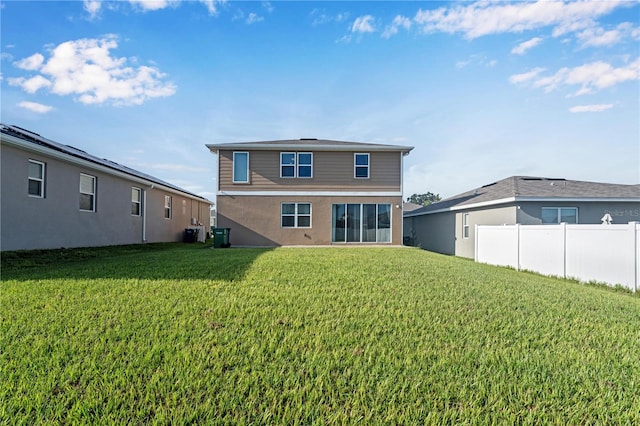
[[[240,246],[402,244],[413,147],[317,139],[209,144],[217,226]]]

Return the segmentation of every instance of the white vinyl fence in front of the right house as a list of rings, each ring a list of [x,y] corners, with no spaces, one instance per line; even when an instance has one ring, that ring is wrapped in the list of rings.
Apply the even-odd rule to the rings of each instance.
[[[640,289],[640,223],[476,226],[476,262]]]

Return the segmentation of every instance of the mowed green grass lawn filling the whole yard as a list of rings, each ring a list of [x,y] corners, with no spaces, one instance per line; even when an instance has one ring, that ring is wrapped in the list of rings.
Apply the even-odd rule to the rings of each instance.
[[[640,424],[640,298],[411,248],[3,254],[9,424]]]

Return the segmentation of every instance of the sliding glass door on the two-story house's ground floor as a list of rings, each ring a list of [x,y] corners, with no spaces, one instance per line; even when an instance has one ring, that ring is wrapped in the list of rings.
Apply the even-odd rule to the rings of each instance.
[[[331,242],[391,242],[391,204],[333,204]]]

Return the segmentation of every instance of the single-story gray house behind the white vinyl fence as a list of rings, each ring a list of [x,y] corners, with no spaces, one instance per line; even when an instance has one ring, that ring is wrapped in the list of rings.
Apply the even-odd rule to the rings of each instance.
[[[476,225],[640,221],[640,185],[512,176],[404,214],[404,235],[423,249],[474,257]]]

